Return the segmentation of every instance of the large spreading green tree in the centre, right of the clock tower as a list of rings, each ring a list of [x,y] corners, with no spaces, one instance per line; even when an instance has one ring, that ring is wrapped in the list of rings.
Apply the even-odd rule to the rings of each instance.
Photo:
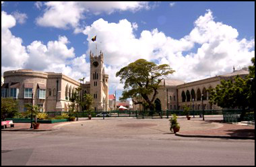
[[[132,62],[121,68],[116,74],[116,76],[121,77],[120,82],[125,84],[125,90],[119,100],[131,98],[133,104],[142,104],[153,111],[155,108],[154,100],[161,80],[173,72],[174,70],[168,64],[158,66],[154,62],[148,62],[144,59]],[[151,98],[150,95],[152,95]]]

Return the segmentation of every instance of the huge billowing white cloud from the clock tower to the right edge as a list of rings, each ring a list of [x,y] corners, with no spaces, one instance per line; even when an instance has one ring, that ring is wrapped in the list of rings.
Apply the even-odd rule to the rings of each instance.
[[[232,72],[232,66],[249,66],[255,52],[255,40],[238,40],[238,31],[214,21],[212,11],[207,10],[194,22],[193,30],[181,39],[166,36],[158,29],[143,30],[138,38],[133,23],[122,19],[108,23],[104,19],[86,26],[88,52],[95,52],[92,36],[97,34],[98,50],[104,52],[104,62],[110,72],[110,82],[119,85],[115,73],[123,66],[139,58],[157,64],[169,64],[176,72],[170,78],[190,82],[216,74]],[[196,51],[191,51],[195,49]]]

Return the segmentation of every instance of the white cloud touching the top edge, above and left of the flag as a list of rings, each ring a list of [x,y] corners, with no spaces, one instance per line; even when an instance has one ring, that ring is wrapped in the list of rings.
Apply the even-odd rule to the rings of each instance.
[[[36,3],[36,7],[41,4]],[[111,14],[116,11],[138,11],[140,9],[150,9],[148,2],[105,2],[105,1],[51,1],[44,3],[46,9],[41,17],[36,19],[36,23],[44,27],[57,27],[62,29],[74,28],[74,32],[81,32],[79,21],[85,18],[84,14],[99,15],[100,13]]]

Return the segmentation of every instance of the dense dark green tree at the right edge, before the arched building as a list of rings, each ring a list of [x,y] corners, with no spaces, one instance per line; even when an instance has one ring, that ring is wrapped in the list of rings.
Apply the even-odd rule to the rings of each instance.
[[[251,59],[253,66],[249,66],[249,75],[246,78],[236,76],[229,80],[221,80],[221,84],[210,90],[210,103],[222,108],[255,109],[255,58]]]

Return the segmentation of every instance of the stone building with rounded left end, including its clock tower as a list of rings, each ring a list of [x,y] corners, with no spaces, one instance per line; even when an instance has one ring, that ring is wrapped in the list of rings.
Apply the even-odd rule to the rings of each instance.
[[[81,87],[79,95],[90,93],[96,111],[108,110],[108,74],[104,72],[103,53],[90,53],[90,82],[80,83],[69,76],[55,72],[30,69],[9,70],[3,73],[1,97],[18,99],[19,111],[26,111],[25,104],[32,103],[42,111],[69,111],[71,95]],[[77,92],[78,93],[78,92]],[[82,109],[79,109],[81,111]]]

